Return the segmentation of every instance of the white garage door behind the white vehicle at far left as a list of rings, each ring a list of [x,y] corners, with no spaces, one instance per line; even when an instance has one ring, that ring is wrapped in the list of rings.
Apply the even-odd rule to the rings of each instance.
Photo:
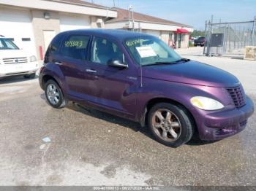
[[[36,55],[29,10],[0,7],[0,35],[14,39],[18,47]]]

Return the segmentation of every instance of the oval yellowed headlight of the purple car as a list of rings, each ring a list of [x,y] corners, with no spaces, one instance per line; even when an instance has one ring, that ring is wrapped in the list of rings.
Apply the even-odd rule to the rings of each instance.
[[[191,98],[190,102],[193,106],[196,106],[197,108],[204,110],[217,110],[222,109],[224,107],[222,103],[215,99],[201,96],[195,96]]]

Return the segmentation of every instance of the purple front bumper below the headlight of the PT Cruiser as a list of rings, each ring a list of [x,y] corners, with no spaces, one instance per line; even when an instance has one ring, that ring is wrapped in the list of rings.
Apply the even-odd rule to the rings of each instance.
[[[202,140],[219,140],[233,136],[244,130],[247,119],[253,114],[254,105],[249,97],[246,97],[246,105],[239,109],[206,114],[200,122],[198,133]]]

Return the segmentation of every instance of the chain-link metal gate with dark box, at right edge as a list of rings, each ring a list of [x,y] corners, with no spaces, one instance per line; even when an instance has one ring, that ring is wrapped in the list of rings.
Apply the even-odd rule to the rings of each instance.
[[[256,17],[233,23],[206,21],[205,55],[243,55],[246,46],[256,46]]]

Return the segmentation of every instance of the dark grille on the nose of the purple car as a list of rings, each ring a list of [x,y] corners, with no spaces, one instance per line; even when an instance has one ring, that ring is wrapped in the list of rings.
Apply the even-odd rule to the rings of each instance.
[[[227,88],[227,91],[230,94],[236,108],[240,108],[241,106],[244,106],[246,104],[243,87],[238,86],[238,87]]]

